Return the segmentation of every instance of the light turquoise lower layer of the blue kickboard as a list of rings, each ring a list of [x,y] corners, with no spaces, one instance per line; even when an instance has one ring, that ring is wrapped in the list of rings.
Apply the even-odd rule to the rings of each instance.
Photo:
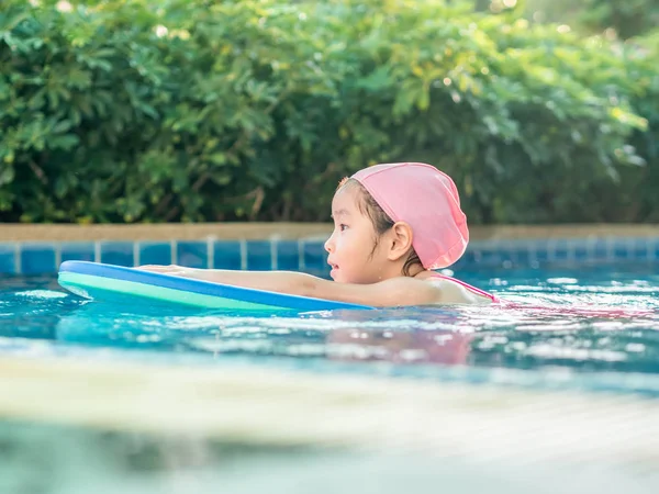
[[[242,300],[224,299],[216,295],[205,295],[185,290],[176,290],[153,284],[137,283],[135,281],[116,280],[112,278],[94,277],[76,272],[60,272],[58,282],[72,293],[90,297],[88,289],[103,290],[107,292],[123,293],[126,295],[142,296],[180,305],[204,308],[225,308],[235,311],[272,311],[284,310],[275,305],[256,304]]]

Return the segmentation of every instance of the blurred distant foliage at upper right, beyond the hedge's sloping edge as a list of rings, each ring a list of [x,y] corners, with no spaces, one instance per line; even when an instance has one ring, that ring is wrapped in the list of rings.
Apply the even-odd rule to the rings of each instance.
[[[481,8],[502,8],[501,0],[479,0]],[[624,74],[632,87],[633,110],[648,122],[647,132],[635,131],[628,139],[646,166],[622,168],[619,182],[604,182],[589,189],[588,197],[599,209],[597,217],[607,221],[659,221],[659,2],[656,0],[523,0],[516,8],[528,19],[568,24],[581,33],[601,33],[622,49]],[[489,9],[490,10],[490,9]],[[655,31],[651,31],[655,29]],[[626,40],[621,44],[616,38]],[[617,82],[616,82],[617,83]],[[603,202],[597,198],[615,198]]]

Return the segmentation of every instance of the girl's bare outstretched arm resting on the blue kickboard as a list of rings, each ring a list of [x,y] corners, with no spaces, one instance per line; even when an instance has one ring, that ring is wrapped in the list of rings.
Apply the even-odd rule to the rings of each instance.
[[[413,278],[392,278],[372,284],[337,283],[293,271],[233,271],[180,266],[141,266],[137,269],[291,295],[311,296],[376,307],[442,303],[442,290]]]

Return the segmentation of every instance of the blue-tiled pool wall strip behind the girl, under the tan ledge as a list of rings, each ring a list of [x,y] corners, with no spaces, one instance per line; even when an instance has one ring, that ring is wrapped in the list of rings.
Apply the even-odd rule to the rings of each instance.
[[[215,239],[0,242],[0,274],[54,274],[66,260],[119,266],[169,265],[242,270],[299,270],[327,277],[324,240]],[[541,267],[557,262],[626,262],[659,260],[659,235],[644,237],[484,239],[469,244],[450,267]]]

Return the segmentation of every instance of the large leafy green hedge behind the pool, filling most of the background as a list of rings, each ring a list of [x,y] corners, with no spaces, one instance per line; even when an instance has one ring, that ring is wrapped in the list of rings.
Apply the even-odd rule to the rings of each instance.
[[[602,194],[657,168],[638,48],[471,2],[71,3],[0,11],[4,222],[327,220],[393,160],[454,176],[471,223],[643,218]]]

